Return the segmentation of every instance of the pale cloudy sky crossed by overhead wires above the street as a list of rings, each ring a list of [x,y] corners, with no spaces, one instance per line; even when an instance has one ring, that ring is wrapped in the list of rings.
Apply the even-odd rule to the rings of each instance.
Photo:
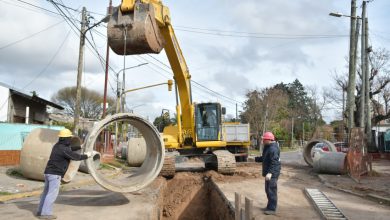
[[[90,23],[100,21],[108,0],[55,0],[80,20],[83,6]],[[350,0],[165,0],[192,79],[195,102],[220,102],[230,116],[242,110],[245,93],[291,83],[333,86],[333,72],[345,72],[349,50]],[[361,13],[358,0],[357,13]],[[113,0],[113,5],[119,5]],[[59,6],[62,10],[65,9]],[[75,10],[73,10],[75,9]],[[390,1],[368,4],[370,43],[390,50]],[[0,0],[0,81],[26,93],[50,99],[59,89],[76,86],[79,33],[47,0]],[[80,26],[80,23],[76,23]],[[106,28],[93,28],[87,38],[106,56]],[[82,85],[103,93],[104,64],[87,43]],[[118,56],[110,53],[108,95],[115,96],[117,73],[125,67],[126,89],[173,78],[164,51],[160,54]],[[119,74],[120,80],[122,73]],[[162,109],[175,112],[175,93],[166,86],[126,95],[129,109],[153,120]],[[339,109],[323,113],[327,122],[340,118]]]

